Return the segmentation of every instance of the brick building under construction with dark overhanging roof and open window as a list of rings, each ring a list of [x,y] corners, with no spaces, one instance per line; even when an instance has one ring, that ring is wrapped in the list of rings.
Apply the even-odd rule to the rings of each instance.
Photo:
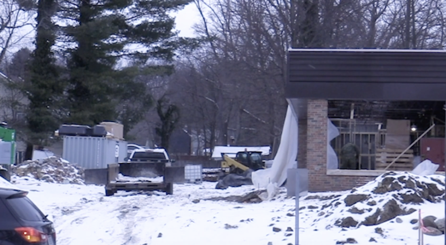
[[[444,51],[290,50],[286,96],[309,190],[350,189],[424,159],[445,171],[445,65]],[[328,140],[331,123],[339,134]],[[328,144],[341,159],[348,143],[357,168],[330,168]]]

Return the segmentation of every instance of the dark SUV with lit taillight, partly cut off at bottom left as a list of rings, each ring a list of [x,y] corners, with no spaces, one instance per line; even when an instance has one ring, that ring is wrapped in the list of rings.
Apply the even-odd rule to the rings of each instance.
[[[0,188],[0,245],[56,245],[53,222],[27,194]]]

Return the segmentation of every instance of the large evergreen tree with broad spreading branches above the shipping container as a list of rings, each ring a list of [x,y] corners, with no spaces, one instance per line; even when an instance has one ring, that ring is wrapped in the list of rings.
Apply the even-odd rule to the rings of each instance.
[[[174,19],[168,13],[189,1],[67,2],[62,8],[63,16],[75,20],[75,24],[64,28],[66,40],[75,44],[69,51],[67,122],[92,125],[121,118],[130,125],[128,122],[136,121],[138,117],[129,118],[133,114],[129,114],[129,107],[122,108],[125,112],[115,109],[122,102],[122,94],[133,99],[146,99],[147,94],[141,93],[146,91],[146,84],[135,80],[138,73],[134,69],[119,66],[128,61],[125,59],[131,59],[138,66],[145,66],[149,59],[159,63],[171,61],[178,40],[172,31]],[[73,2],[77,4],[74,8]]]

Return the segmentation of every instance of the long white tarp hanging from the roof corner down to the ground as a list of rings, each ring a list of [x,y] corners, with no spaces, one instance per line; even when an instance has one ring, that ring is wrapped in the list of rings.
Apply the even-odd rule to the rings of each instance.
[[[291,107],[288,105],[285,122],[283,123],[280,145],[273,165],[269,169],[257,170],[252,173],[252,183],[257,188],[267,189],[268,197],[273,197],[278,186],[286,180],[286,172],[296,164],[297,157],[297,118],[294,117]]]

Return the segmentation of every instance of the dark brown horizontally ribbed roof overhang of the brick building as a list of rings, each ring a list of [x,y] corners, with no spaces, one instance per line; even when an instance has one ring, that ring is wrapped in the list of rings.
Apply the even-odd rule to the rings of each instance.
[[[288,99],[446,101],[446,51],[288,50]]]

